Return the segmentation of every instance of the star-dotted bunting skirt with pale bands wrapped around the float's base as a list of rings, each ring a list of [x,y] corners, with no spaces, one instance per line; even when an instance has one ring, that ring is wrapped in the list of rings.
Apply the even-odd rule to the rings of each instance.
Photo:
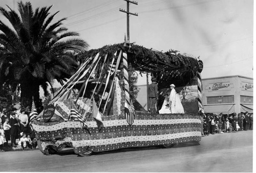
[[[49,146],[60,150],[65,143],[68,143],[73,146],[75,153],[201,140],[199,115],[156,115],[154,117],[159,119],[154,119],[150,115],[136,115],[133,126],[127,125],[126,119],[113,119],[112,116],[102,118],[104,127],[101,133],[98,132],[93,118],[87,118],[88,130],[82,129],[78,120],[55,123],[50,126],[44,122],[37,124],[33,122],[33,127],[37,138],[51,140],[42,144],[43,150]]]

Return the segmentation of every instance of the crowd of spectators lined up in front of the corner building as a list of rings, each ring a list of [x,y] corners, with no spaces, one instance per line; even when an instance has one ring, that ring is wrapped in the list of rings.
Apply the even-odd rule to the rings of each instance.
[[[232,114],[214,115],[203,114],[203,134],[208,136],[215,133],[231,133],[234,131],[247,131],[253,129],[253,113],[241,112]]]

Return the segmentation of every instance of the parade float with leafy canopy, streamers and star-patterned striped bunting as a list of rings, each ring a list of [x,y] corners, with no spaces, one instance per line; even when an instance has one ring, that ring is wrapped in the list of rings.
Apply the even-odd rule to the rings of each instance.
[[[76,154],[89,156],[201,140],[201,61],[173,50],[162,53],[134,44],[106,45],[81,53],[78,61],[75,74],[31,123],[42,153],[71,146]],[[185,113],[151,114],[138,106],[135,98],[130,99],[129,67],[157,79],[158,105],[175,83]]]

